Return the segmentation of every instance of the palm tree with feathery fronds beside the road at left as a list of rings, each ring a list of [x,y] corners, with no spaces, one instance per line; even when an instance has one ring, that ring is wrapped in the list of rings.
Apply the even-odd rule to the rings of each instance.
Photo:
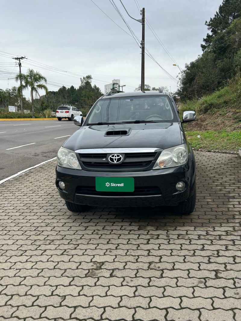
[[[18,92],[21,92],[22,90],[26,90],[30,88],[31,90],[31,101],[32,101],[32,118],[34,118],[34,107],[33,107],[33,93],[39,95],[39,89],[45,90],[45,93],[47,95],[48,88],[45,84],[42,82],[47,83],[46,77],[41,75],[38,71],[34,71],[33,69],[28,69],[27,74],[17,74],[15,77],[16,81],[22,80],[22,86],[20,85],[18,87]],[[22,88],[21,88],[22,87]]]

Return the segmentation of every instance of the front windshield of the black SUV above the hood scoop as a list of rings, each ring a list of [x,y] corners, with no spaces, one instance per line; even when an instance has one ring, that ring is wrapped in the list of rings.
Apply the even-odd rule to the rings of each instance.
[[[87,123],[118,123],[137,120],[172,122],[175,119],[174,117],[171,102],[164,95],[112,97],[96,102],[87,119]]]

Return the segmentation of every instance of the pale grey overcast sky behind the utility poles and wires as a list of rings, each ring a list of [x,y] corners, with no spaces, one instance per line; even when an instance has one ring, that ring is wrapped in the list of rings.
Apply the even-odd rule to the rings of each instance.
[[[120,0],[113,2],[141,39],[141,23],[127,15]],[[122,2],[136,19],[141,18],[138,6],[145,8],[145,46],[174,77],[146,55],[145,83],[175,91],[179,68],[173,66],[174,61],[182,69],[202,53],[200,44],[208,31],[205,21],[214,16],[222,0]],[[22,72],[38,70],[46,76],[49,90],[62,85],[78,87],[80,77],[87,74],[102,92],[112,79],[120,79],[125,91],[133,91],[140,84],[141,49],[111,0],[0,0],[0,5],[0,88],[16,85],[11,79],[19,71],[11,59],[14,56],[26,56]]]

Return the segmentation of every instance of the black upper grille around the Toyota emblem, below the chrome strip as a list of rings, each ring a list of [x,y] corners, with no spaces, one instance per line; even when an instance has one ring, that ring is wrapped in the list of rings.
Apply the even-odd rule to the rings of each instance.
[[[124,160],[121,164],[110,164],[107,160],[107,153],[79,153],[80,166],[85,170],[92,171],[138,171],[152,169],[159,153],[124,153]]]

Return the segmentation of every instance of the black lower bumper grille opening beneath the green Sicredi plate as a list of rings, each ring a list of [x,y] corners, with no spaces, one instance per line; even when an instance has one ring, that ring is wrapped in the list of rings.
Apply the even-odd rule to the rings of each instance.
[[[99,192],[94,186],[78,186],[76,194],[80,195],[98,195],[98,196],[155,196],[161,195],[160,188],[153,187],[135,187],[134,192]]]

